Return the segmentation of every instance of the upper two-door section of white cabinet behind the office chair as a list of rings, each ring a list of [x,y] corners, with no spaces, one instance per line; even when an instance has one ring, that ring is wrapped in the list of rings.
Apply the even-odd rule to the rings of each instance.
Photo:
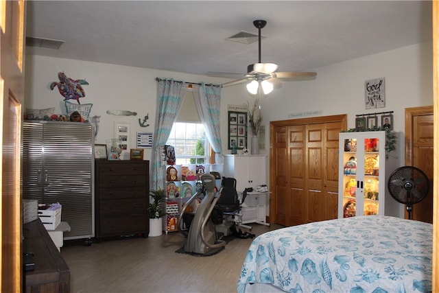
[[[238,192],[266,185],[266,159],[264,155],[224,155],[224,176],[236,179]]]

